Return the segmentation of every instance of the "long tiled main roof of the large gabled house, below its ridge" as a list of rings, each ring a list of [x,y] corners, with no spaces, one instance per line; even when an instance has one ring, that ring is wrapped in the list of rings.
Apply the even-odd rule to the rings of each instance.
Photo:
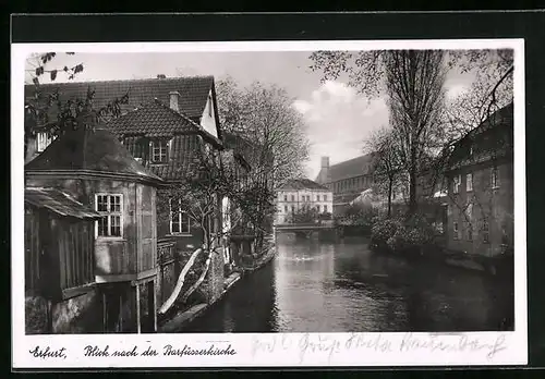
[[[121,105],[122,112],[133,110],[155,98],[165,103],[170,101],[170,91],[178,91],[179,109],[192,119],[203,115],[208,94],[214,87],[214,76],[185,76],[171,78],[146,78],[104,82],[69,82],[41,84],[46,94],[59,90],[61,101],[85,99],[88,88],[95,91],[94,108],[100,109],[116,98],[129,93],[129,103]],[[25,99],[32,98],[35,86],[25,86]],[[51,107],[53,110],[56,107]]]

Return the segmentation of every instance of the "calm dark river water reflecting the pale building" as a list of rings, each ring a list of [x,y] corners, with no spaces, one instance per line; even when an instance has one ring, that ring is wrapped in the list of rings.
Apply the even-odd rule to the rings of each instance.
[[[512,283],[477,271],[409,261],[281,235],[277,256],[239,281],[184,332],[512,330]]]

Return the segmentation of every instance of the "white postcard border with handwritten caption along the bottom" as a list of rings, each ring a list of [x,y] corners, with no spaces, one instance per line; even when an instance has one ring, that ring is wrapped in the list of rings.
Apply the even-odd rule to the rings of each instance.
[[[516,252],[516,318],[514,332],[480,332],[456,334],[432,333],[358,333],[360,346],[347,341],[352,333],[264,333],[264,334],[87,334],[87,335],[25,335],[24,332],[24,228],[23,228],[23,134],[24,69],[31,52],[182,52],[182,51],[313,51],[373,49],[514,49],[514,252]],[[77,367],[256,367],[256,366],[468,366],[528,364],[526,309],[526,217],[525,217],[525,148],[524,148],[524,40],[374,40],[374,41],[251,41],[251,42],[153,42],[153,44],[14,44],[12,45],[12,364],[14,368],[77,368]],[[458,346],[456,350],[421,347],[402,351],[409,335],[420,341],[435,341]],[[390,351],[380,352],[370,341],[389,341]],[[489,350],[460,349],[461,339],[479,340],[481,344],[499,344],[502,351],[488,357]],[[237,352],[231,356],[156,356],[124,358],[90,358],[83,355],[88,344],[132,349],[143,352],[148,344],[161,353],[162,345],[193,349],[205,347],[210,341],[217,346],[228,344]],[[228,342],[221,342],[228,341]],[[353,341],[353,340],[351,340]],[[34,358],[29,351],[36,345],[51,350],[65,347],[65,359]],[[306,351],[302,354],[303,349]],[[314,347],[314,351],[312,351]]]

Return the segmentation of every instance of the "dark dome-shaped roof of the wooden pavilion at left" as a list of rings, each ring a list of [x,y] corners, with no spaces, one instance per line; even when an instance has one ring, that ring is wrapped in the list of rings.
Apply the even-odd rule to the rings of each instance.
[[[25,164],[25,171],[92,171],[160,181],[138,163],[109,131],[68,131],[55,139],[38,157]]]

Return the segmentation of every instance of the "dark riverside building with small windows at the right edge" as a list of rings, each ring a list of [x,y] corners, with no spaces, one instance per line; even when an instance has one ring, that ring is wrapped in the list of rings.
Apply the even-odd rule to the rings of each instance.
[[[450,249],[496,256],[512,248],[513,138],[510,103],[456,144],[446,172]]]

